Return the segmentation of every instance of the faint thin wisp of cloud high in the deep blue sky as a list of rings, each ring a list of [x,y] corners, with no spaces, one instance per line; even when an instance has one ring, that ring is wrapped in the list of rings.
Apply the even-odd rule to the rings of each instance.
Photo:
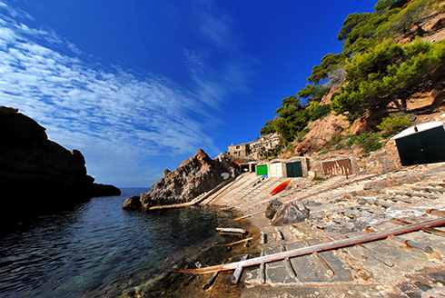
[[[248,64],[252,58],[243,55],[241,38],[230,15],[213,1],[198,1],[195,9],[199,34],[210,47],[184,49],[183,53],[196,84],[196,94],[203,104],[217,108],[224,97],[250,92],[252,72]]]

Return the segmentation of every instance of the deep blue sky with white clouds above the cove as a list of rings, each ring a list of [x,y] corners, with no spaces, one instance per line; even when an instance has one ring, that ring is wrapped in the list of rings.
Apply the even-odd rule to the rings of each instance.
[[[376,2],[0,0],[0,105],[97,183],[148,187],[199,148],[256,140]]]

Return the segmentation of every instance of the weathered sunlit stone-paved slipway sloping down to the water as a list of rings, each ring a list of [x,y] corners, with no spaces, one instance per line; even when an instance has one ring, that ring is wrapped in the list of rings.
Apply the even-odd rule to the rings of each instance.
[[[232,187],[211,200],[211,204],[232,206],[243,214],[265,210],[272,199],[268,192],[282,180],[273,178],[252,186],[256,177],[243,174]],[[332,177],[314,183],[293,179],[289,190],[274,198],[292,202],[302,198],[311,210],[309,220],[280,227],[284,240],[277,240],[274,227],[264,214],[250,220],[268,235],[258,244],[266,253],[329,242],[364,234],[371,226],[383,231],[401,223],[437,218],[428,209],[445,210],[445,164],[404,168],[379,175]],[[372,229],[371,229],[372,230]],[[245,270],[243,297],[440,297],[445,295],[445,228],[437,233],[416,232],[399,236],[430,245],[434,253],[424,253],[390,239],[354,245],[329,252],[291,258],[296,274],[290,278],[282,261],[266,264],[265,283],[259,266]],[[255,235],[253,235],[255,236]],[[260,235],[256,235],[260,237]]]

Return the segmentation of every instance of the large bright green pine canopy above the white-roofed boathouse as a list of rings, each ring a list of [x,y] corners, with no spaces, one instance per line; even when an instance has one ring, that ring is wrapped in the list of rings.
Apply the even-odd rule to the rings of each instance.
[[[346,84],[333,95],[332,108],[351,120],[389,104],[405,112],[407,99],[434,81],[445,64],[445,42],[421,40],[401,45],[387,40],[346,67]]]

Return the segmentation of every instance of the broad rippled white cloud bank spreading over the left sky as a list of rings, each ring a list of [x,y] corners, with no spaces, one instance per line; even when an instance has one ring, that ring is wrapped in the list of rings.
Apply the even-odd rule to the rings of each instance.
[[[203,146],[217,153],[205,130],[217,121],[212,103],[224,95],[221,84],[196,73],[197,85],[184,89],[163,76],[142,79],[93,65],[75,45],[16,15],[30,18],[0,2],[0,104],[20,108],[57,143],[81,149],[90,173],[106,167],[109,173],[129,167],[141,172],[149,156],[193,153]],[[72,55],[58,51],[62,47]]]

